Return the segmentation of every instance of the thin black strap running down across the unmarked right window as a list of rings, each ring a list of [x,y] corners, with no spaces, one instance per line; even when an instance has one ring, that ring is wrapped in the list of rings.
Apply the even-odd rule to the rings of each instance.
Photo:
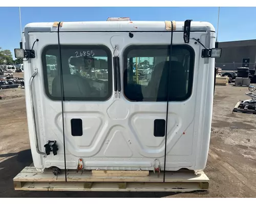
[[[172,69],[172,48],[173,48],[173,21],[172,23],[172,36],[170,36],[170,54],[169,54],[169,71],[167,74],[167,107],[166,107],[166,123],[165,123],[165,148],[164,148],[164,171],[163,171],[163,182],[165,182],[165,166],[166,166],[166,145],[167,145],[167,126],[168,126],[168,109],[169,109],[169,75]],[[160,165],[160,164],[159,164]]]

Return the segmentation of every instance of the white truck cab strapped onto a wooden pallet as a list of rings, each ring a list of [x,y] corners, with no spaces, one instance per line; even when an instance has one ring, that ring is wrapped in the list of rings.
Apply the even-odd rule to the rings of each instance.
[[[214,58],[221,54],[210,23],[29,23],[22,41],[15,56],[27,60],[29,138],[38,170],[77,169],[79,159],[84,169],[205,168]],[[152,67],[150,81],[133,71],[143,57],[145,70]],[[56,70],[47,69],[53,60]]]

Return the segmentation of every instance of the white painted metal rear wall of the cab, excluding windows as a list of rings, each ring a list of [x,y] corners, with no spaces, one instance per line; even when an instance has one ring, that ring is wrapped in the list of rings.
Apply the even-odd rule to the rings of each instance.
[[[102,24],[101,24],[102,23]],[[133,23],[112,23],[106,31],[129,30]],[[164,22],[134,22],[141,31],[164,31]],[[194,24],[193,24],[194,23]],[[207,23],[193,22],[196,27]],[[34,26],[35,24],[29,24]],[[41,27],[42,24],[37,24]],[[43,24],[44,25],[44,24]],[[45,24],[47,27],[49,25]],[[102,25],[102,26],[100,26]],[[66,32],[66,31],[100,31],[105,22],[64,22],[61,28],[61,45],[104,45],[111,52],[118,45],[121,69],[122,91],[120,98],[112,96],[106,101],[64,101],[66,161],[68,169],[76,169],[79,158],[82,158],[87,169],[127,169],[138,168],[153,170],[154,161],[158,159],[164,167],[165,137],[154,137],[155,119],[165,119],[166,102],[131,102],[123,95],[123,53],[130,45],[168,45],[170,32],[136,32],[130,38],[128,32]],[[177,22],[177,30],[182,29],[183,22]],[[192,27],[193,28],[193,27]],[[56,28],[52,28],[52,31]],[[131,30],[133,31],[133,30]],[[208,36],[208,37],[207,37]],[[211,36],[211,38],[209,38]],[[190,38],[200,39],[207,46],[214,47],[215,34],[191,32]],[[35,44],[35,59],[25,64],[25,80],[32,75],[32,68],[38,68],[34,80],[36,121],[40,149],[48,140],[57,140],[58,154],[47,158],[39,156],[34,148],[35,141],[31,114],[28,111],[31,150],[36,168],[57,166],[64,168],[62,109],[61,101],[47,97],[42,73],[42,50],[48,45],[57,45],[57,33],[29,33],[30,44]],[[184,44],[183,32],[175,32],[173,44]],[[194,40],[188,44],[195,52],[193,89],[185,101],[170,101],[168,111],[168,129],[166,146],[166,170],[180,168],[204,169],[209,146],[210,124],[214,86],[214,59],[201,58],[202,46]],[[114,82],[113,87],[114,87]],[[26,86],[25,86],[26,87]],[[26,88],[27,108],[31,108]],[[81,118],[83,136],[71,135],[70,120]]]

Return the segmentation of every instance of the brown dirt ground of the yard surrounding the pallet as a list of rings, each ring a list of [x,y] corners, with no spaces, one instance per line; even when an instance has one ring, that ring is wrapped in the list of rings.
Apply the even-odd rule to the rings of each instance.
[[[32,163],[24,89],[0,90],[0,197],[256,197],[256,115],[232,113],[247,87],[216,86],[206,193],[14,191],[13,177]]]

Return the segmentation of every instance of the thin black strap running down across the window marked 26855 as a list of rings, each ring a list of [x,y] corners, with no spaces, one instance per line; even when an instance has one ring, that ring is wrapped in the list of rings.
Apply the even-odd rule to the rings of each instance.
[[[58,24],[58,46],[59,46],[59,61],[60,61],[60,89],[61,89],[61,111],[62,111],[62,129],[63,129],[63,148],[64,148],[64,164],[65,164],[65,181],[67,182],[67,166],[66,166],[66,146],[65,146],[65,125],[64,125],[64,112],[63,112],[63,100],[64,98],[64,86],[63,86],[63,71],[62,71],[62,59],[61,59],[61,49],[59,42],[59,25]]]

